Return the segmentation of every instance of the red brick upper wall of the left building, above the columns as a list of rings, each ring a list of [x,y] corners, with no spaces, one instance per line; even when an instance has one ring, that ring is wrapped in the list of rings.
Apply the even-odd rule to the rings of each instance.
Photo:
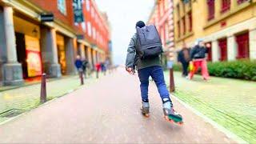
[[[66,25],[72,26],[74,28],[74,30],[78,33],[78,34],[85,34],[86,39],[89,40],[90,43],[94,43],[97,44],[97,46],[99,48],[102,48],[102,50],[107,51],[108,50],[108,41],[109,41],[109,32],[107,30],[107,26],[102,26],[103,19],[100,19],[100,22],[95,22],[95,17],[92,18],[91,17],[91,10],[94,9],[95,15],[98,15],[99,17],[99,12],[97,11],[97,9],[95,8],[94,2],[90,2],[90,11],[86,10],[86,2],[83,3],[83,13],[84,13],[84,17],[86,19],[86,33],[83,32],[82,30],[82,26],[74,26],[74,14],[73,14],[73,6],[72,6],[72,0],[66,0],[66,15],[62,14],[59,10],[58,10],[58,6],[57,6],[57,0],[29,0],[30,2],[33,2],[34,5],[41,7],[43,10],[46,11],[50,11],[52,13],[54,13],[54,18],[62,21],[63,23],[65,23]],[[95,29],[98,31],[99,34],[102,34],[103,37],[103,42],[100,43],[97,38],[98,35],[96,37],[96,39],[93,38],[93,30],[92,31],[92,35],[89,36],[88,35],[88,27],[87,27],[87,22],[91,23],[91,26],[95,27]],[[100,29],[100,27],[102,27],[102,29]]]

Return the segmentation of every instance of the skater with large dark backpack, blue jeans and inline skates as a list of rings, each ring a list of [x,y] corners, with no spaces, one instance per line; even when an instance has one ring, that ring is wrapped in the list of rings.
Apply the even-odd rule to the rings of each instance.
[[[127,50],[126,71],[130,74],[134,74],[135,67],[138,70],[138,78],[141,82],[142,114],[148,117],[150,113],[148,86],[149,77],[151,76],[154,79],[160,97],[162,98],[163,113],[166,120],[181,124],[182,116],[175,112],[169,91],[166,88],[160,62],[162,42],[158,36],[158,32],[155,26],[146,26],[142,21],[136,23],[136,30],[137,32],[131,38]],[[149,35],[150,38],[147,38]],[[140,41],[138,41],[138,38],[140,38]],[[152,38],[154,38],[154,40],[149,40]],[[150,47],[148,47],[149,45]]]

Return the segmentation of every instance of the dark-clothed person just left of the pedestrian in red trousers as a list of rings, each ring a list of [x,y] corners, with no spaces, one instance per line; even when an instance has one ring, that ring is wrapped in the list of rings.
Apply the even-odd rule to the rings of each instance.
[[[182,50],[178,52],[178,62],[182,63],[182,76],[187,77],[190,64],[190,49],[186,47],[185,42],[183,42]]]

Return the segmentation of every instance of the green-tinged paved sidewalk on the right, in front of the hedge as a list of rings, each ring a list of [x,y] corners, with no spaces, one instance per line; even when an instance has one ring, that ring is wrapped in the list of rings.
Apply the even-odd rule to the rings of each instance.
[[[166,71],[166,82],[169,73]],[[247,142],[256,143],[256,82],[214,78],[192,81],[174,72],[175,95]],[[168,82],[169,83],[169,82]]]

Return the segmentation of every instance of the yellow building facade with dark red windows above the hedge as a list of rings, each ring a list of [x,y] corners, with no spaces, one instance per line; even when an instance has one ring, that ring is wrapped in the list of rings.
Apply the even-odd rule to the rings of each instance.
[[[255,0],[174,0],[175,47],[210,43],[208,60],[256,59]]]

